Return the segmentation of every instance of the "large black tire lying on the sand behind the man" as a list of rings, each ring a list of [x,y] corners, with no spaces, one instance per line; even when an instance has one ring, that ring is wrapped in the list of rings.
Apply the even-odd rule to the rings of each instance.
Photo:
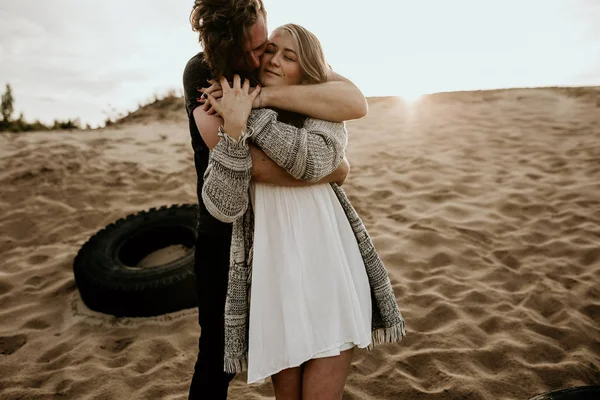
[[[75,283],[91,310],[118,317],[150,317],[197,307],[194,275],[197,205],[151,208],[94,234],[73,263]],[[146,255],[183,244],[183,257],[135,267]]]

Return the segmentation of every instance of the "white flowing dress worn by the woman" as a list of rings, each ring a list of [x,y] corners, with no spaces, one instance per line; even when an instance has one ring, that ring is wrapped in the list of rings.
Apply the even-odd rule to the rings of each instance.
[[[248,383],[371,343],[371,294],[329,184],[253,183]]]

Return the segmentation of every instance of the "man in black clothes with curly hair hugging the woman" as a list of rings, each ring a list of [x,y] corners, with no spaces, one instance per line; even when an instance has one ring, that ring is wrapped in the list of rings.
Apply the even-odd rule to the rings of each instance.
[[[201,87],[209,79],[234,73],[252,80],[267,45],[266,11],[262,0],[195,0],[190,22],[204,52],[192,57],[183,73],[186,111],[198,178],[198,238],[194,271],[198,291],[199,353],[189,391],[190,399],[226,399],[233,375],[223,371],[224,310],[229,270],[231,224],[212,217],[202,201],[203,175],[209,150],[220,140],[221,119],[200,107]],[[256,82],[254,80],[254,82]],[[276,107],[313,118],[341,122],[362,118],[364,96],[349,80],[331,73],[328,82],[262,88],[262,107]],[[262,150],[251,146],[252,179],[279,186],[307,185],[290,176]],[[323,182],[341,182],[348,173],[344,163]]]

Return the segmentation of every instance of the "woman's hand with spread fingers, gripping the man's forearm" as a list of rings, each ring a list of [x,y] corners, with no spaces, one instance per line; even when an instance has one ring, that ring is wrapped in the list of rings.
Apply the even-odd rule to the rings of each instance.
[[[238,139],[242,131],[246,129],[246,123],[252,111],[252,103],[260,92],[260,86],[250,91],[250,81],[244,79],[244,85],[241,85],[239,75],[233,77],[233,87],[224,77],[220,81],[223,91],[223,97],[217,101],[211,93],[204,92],[203,97],[210,103],[212,108],[223,118],[225,132]]]

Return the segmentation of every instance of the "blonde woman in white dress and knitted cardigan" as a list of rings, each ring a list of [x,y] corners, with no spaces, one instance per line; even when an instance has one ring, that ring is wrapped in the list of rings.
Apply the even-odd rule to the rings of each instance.
[[[270,38],[259,80],[319,83],[328,71],[318,39],[288,24]],[[316,182],[342,162],[345,126],[267,109],[250,114],[260,88],[250,91],[239,77],[233,88],[221,84],[219,102],[208,96],[224,123],[202,195],[211,214],[234,223],[226,369],[247,364],[249,383],[272,376],[278,399],[341,398],[354,347],[405,335],[387,273],[338,185],[251,184],[247,141],[297,179]]]

